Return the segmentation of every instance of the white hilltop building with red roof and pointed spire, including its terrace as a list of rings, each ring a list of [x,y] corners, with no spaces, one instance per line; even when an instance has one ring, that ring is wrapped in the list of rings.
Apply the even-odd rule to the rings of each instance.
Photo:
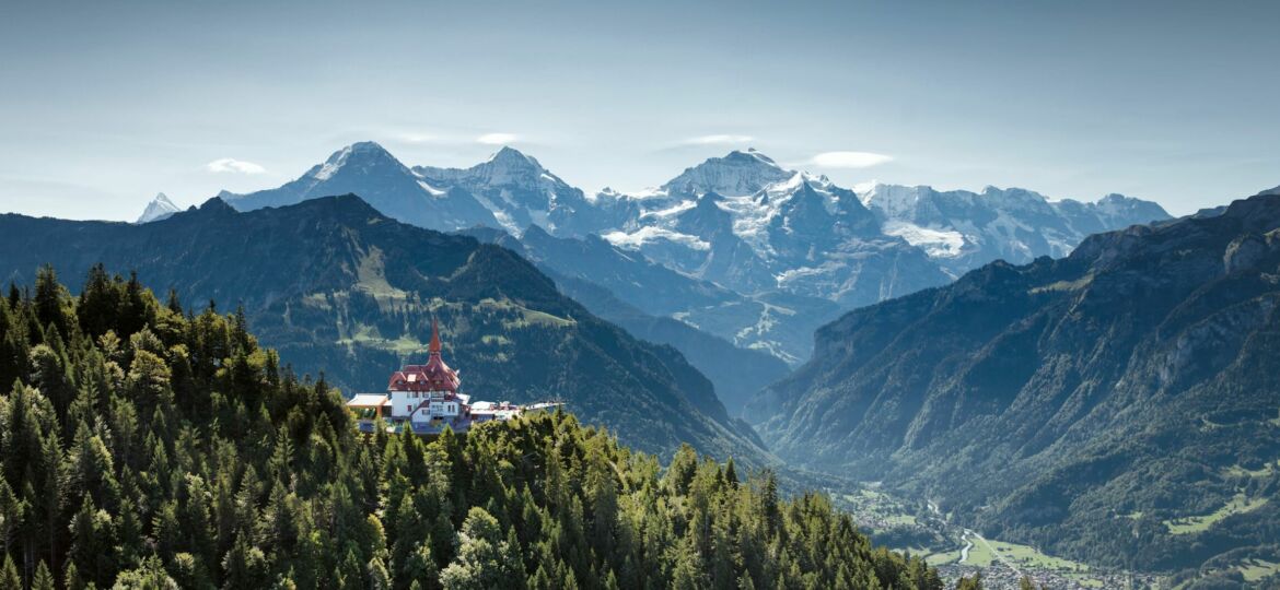
[[[358,393],[347,402],[362,432],[385,425],[392,432],[410,428],[415,434],[439,434],[445,427],[466,432],[472,424],[509,420],[527,410],[543,410],[557,404],[517,406],[511,402],[476,401],[460,391],[458,372],[444,363],[440,328],[431,321],[431,344],[425,364],[404,365],[393,372],[387,393]]]

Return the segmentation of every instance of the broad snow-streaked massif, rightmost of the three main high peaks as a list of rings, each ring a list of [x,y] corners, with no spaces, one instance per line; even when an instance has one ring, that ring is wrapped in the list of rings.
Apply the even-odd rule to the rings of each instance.
[[[623,221],[614,246],[739,292],[785,292],[858,306],[947,281],[927,253],[881,231],[852,190],[731,152],[658,190],[598,199]]]

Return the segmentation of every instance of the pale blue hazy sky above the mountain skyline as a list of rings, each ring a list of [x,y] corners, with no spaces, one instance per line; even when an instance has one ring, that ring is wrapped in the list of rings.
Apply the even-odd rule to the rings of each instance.
[[[511,143],[590,192],[753,146],[844,185],[1187,213],[1280,184],[1277,31],[1275,1],[5,0],[0,211],[132,220],[372,139],[436,166]]]

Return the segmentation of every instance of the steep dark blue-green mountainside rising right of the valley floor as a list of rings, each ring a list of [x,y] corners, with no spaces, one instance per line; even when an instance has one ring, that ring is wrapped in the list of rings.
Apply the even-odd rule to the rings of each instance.
[[[1277,277],[1280,197],[1094,235],[842,317],[748,416],[991,534],[1194,567],[1280,541]]]

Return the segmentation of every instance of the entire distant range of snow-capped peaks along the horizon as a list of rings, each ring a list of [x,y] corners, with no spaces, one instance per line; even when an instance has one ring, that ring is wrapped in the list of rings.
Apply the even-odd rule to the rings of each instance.
[[[221,197],[247,211],[343,193],[442,231],[484,226],[520,239],[536,226],[541,241],[530,252],[545,248],[543,235],[584,240],[572,262],[548,255],[541,264],[791,364],[809,356],[813,329],[844,310],[945,285],[997,258],[1062,257],[1089,234],[1169,217],[1121,195],[1083,203],[991,186],[854,190],[754,149],[709,158],[644,193],[586,195],[509,147],[468,169],[442,169],[406,166],[362,142],[283,186]],[[611,262],[622,259],[639,264]],[[654,266],[673,272],[652,284]]]

